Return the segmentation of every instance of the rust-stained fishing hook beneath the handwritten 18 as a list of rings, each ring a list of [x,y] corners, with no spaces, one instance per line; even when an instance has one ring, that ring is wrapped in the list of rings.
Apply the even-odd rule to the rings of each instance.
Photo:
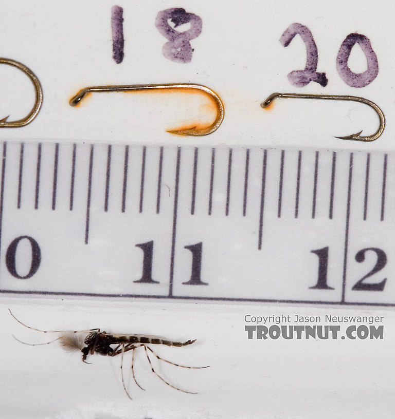
[[[216,92],[209,89],[206,86],[202,86],[200,84],[192,84],[192,83],[185,83],[185,84],[133,84],[133,85],[119,85],[119,86],[92,86],[92,87],[85,87],[84,89],[80,90],[76,96],[70,99],[70,105],[76,106],[78,105],[82,99],[86,97],[88,93],[91,92],[128,92],[128,91],[141,91],[141,90],[181,90],[181,89],[188,89],[188,90],[197,90],[203,92],[210,98],[217,110],[217,117],[212,124],[208,127],[203,129],[198,129],[196,126],[186,129],[171,129],[167,130],[171,134],[178,134],[178,135],[187,135],[187,136],[204,136],[211,134],[212,132],[216,131],[219,126],[222,124],[224,119],[224,105]]]

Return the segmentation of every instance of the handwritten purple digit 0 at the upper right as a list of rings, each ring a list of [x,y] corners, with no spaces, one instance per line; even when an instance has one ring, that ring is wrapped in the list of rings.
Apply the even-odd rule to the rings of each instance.
[[[359,44],[366,56],[368,68],[363,73],[354,73],[348,66],[351,49]],[[340,45],[336,58],[336,68],[339,76],[351,87],[365,87],[370,84],[379,73],[379,63],[373,51],[369,38],[359,33],[350,33]]]

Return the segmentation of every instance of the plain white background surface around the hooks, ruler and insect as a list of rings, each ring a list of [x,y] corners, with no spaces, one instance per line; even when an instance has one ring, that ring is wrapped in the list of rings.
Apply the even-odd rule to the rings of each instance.
[[[150,2],[124,8],[125,58],[111,59],[111,2],[48,3],[15,1],[2,5],[1,55],[26,64],[40,78],[42,110],[30,125],[2,130],[1,139],[112,143],[231,144],[393,150],[393,4],[390,2]],[[202,17],[203,31],[191,44],[190,64],[161,55],[166,39],[154,26],[158,11],[183,7]],[[326,88],[311,83],[294,88],[286,75],[304,68],[304,45],[294,39],[283,48],[278,39],[291,23],[313,32],[317,71],[325,71]],[[378,55],[379,75],[363,88],[348,87],[336,71],[336,54],[351,32],[367,35]],[[364,71],[354,48],[350,67]],[[204,113],[201,102],[175,94],[97,94],[79,108],[68,100],[80,88],[101,84],[192,82],[216,90],[225,103],[225,120],[207,137],[184,138],[165,132]],[[333,138],[376,129],[376,116],[354,103],[279,101],[275,110],[259,106],[273,91],[354,94],[378,103],[387,127],[372,144]],[[0,66],[0,115],[26,115],[33,91],[22,73]],[[30,96],[29,96],[30,95]],[[204,104],[204,103],[203,103]],[[366,129],[366,131],[365,131]],[[56,273],[54,273],[56,275]],[[360,308],[269,307],[260,304],[182,304],[146,301],[60,300],[3,297],[0,306],[2,350],[0,406],[3,417],[267,417],[392,418],[392,310]],[[57,344],[28,347],[46,335],[29,331],[9,315],[43,329],[100,327],[120,333],[149,333],[174,339],[197,338],[188,348],[161,348],[180,364],[206,370],[161,371],[177,385],[199,391],[176,392],[159,382],[139,355],[136,373],[146,392],[131,383],[131,402],[120,383],[119,359],[95,357],[82,364],[78,354]],[[247,340],[245,314],[385,316],[383,340]],[[42,339],[42,340],[41,340]],[[129,360],[130,362],[130,360]],[[128,361],[125,360],[127,364]],[[141,366],[144,365],[144,366]],[[60,412],[69,411],[60,414]]]

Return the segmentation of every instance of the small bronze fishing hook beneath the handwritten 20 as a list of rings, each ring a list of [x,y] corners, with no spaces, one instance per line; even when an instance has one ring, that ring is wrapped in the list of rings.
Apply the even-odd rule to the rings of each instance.
[[[341,140],[358,140],[358,141],[374,141],[379,138],[384,131],[385,127],[385,117],[383,111],[377,106],[374,102],[361,98],[358,96],[343,96],[337,94],[303,94],[303,93],[272,93],[264,102],[261,103],[262,108],[269,106],[276,98],[286,98],[286,99],[323,99],[323,100],[344,100],[344,101],[353,101],[364,103],[365,105],[370,106],[375,110],[380,119],[379,129],[371,136],[361,136],[361,132],[356,132],[356,134],[351,134],[345,137],[336,137]]]

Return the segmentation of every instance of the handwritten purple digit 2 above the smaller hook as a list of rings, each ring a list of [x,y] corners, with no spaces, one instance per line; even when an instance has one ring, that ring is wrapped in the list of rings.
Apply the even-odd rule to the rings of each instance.
[[[310,82],[316,82],[322,87],[328,84],[328,79],[325,73],[317,73],[318,64],[318,50],[315,44],[313,34],[307,26],[300,23],[293,23],[290,25],[280,37],[280,42],[283,47],[288,47],[295,35],[299,34],[304,45],[306,45],[307,59],[304,70],[291,71],[288,74],[290,83],[297,87],[307,86]]]

